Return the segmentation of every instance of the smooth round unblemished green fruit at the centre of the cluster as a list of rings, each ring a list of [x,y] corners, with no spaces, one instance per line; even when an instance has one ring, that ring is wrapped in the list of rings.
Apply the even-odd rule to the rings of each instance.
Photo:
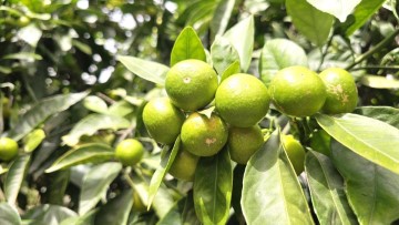
[[[257,124],[269,109],[265,84],[254,75],[237,73],[224,80],[216,91],[215,106],[223,120],[233,126]]]

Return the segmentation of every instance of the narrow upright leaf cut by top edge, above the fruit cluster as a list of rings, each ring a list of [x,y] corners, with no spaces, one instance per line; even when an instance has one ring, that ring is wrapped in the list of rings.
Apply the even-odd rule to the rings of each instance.
[[[235,0],[221,0],[211,21],[211,31],[213,37],[222,35],[227,28],[232,17]]]

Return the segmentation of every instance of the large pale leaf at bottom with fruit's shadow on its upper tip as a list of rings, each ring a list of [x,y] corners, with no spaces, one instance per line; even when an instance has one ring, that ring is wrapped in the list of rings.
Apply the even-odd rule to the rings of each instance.
[[[277,130],[245,168],[241,204],[248,224],[314,224]]]

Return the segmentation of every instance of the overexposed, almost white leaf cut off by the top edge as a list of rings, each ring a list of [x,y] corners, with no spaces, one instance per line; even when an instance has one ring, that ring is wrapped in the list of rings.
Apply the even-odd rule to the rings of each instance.
[[[306,0],[316,9],[327,12],[344,22],[361,0]],[[367,1],[367,0],[366,0]],[[317,18],[317,17],[316,17]]]

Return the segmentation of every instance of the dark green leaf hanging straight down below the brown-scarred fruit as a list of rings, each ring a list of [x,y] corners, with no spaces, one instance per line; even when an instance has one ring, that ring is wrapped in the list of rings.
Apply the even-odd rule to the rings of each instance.
[[[227,147],[215,156],[200,158],[193,190],[198,219],[203,224],[225,224],[233,191],[233,168]]]

